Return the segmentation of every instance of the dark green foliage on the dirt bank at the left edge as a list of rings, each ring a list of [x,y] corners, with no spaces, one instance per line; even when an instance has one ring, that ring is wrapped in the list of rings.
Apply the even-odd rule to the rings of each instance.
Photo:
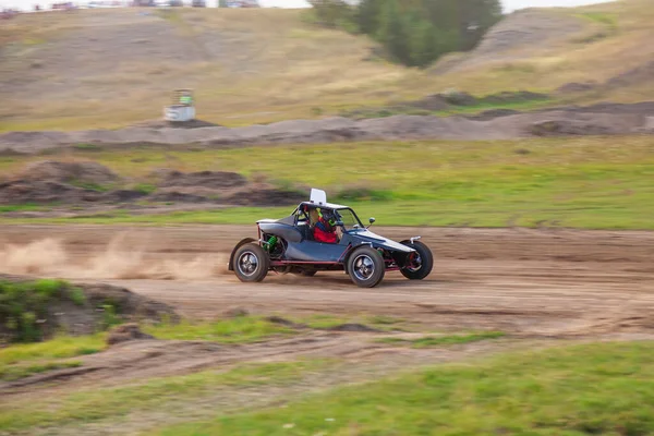
[[[0,324],[11,340],[33,342],[43,339],[41,319],[56,300],[85,302],[84,292],[63,280],[43,279],[29,282],[0,281]]]

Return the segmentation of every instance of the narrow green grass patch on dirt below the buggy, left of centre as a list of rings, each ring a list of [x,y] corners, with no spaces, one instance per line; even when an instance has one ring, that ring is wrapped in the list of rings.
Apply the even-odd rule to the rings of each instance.
[[[214,323],[192,323],[184,319],[179,324],[161,323],[144,326],[143,331],[157,339],[206,340],[221,343],[257,342],[295,332],[289,327],[255,316],[238,316]]]

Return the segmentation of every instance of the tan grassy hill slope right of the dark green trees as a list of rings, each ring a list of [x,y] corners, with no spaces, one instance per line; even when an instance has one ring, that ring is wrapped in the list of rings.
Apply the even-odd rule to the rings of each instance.
[[[529,84],[560,88],[560,99],[639,101],[654,89],[653,19],[647,0],[514,12],[472,52],[437,62],[433,80],[473,94]]]

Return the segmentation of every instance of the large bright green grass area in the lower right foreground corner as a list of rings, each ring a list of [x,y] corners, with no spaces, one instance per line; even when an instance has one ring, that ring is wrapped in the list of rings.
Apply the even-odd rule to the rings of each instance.
[[[162,428],[159,435],[647,435],[651,342],[510,353]]]

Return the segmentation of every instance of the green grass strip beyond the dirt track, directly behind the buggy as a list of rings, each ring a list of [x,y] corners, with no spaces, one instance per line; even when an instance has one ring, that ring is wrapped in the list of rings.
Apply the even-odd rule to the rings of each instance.
[[[147,174],[153,170],[171,168],[237,171],[307,194],[311,186],[322,187],[331,201],[352,205],[362,220],[374,216],[379,226],[654,229],[653,152],[651,136],[593,136],[195,152],[148,147],[129,152],[82,149],[48,158],[92,159],[128,178],[130,183],[148,183]],[[27,161],[43,158],[1,157],[0,170],[17,172]],[[134,215],[119,209],[65,219],[9,218],[0,214],[0,220],[155,226],[252,223],[290,211],[292,207],[237,207]]]

